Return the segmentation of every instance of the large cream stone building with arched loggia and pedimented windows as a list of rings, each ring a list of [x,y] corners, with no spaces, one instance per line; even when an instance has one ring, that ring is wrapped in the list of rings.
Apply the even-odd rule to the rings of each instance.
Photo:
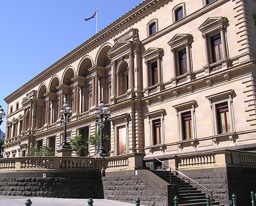
[[[5,98],[4,157],[40,145],[57,153],[65,101],[67,139],[82,134],[81,155],[93,156],[86,140],[102,100],[111,157],[138,153],[153,170],[165,168],[158,158],[208,174],[228,205],[235,168],[256,166],[255,18],[255,0],[145,0]]]

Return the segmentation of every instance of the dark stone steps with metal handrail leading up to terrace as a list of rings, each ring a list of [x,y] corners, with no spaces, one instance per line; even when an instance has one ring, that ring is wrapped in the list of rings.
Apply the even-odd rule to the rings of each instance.
[[[162,178],[164,181],[178,185],[178,191],[179,191],[179,194],[177,194],[179,198],[178,206],[193,206],[193,205],[206,206],[205,193],[202,193],[200,190],[198,190],[197,188],[194,188],[192,185],[190,185],[190,193],[189,193],[189,184],[172,173],[171,173],[171,181],[170,181],[169,171],[154,170],[152,172],[156,174],[158,177]],[[224,206],[223,204],[220,204],[215,200],[213,203],[216,206]],[[212,205],[212,202],[210,202],[210,205]]]

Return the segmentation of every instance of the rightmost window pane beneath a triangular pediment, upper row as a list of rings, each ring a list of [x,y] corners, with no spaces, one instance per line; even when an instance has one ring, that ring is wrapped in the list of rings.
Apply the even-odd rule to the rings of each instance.
[[[217,62],[222,59],[222,45],[220,33],[214,35],[213,37],[210,37],[210,43],[212,47],[213,62]]]

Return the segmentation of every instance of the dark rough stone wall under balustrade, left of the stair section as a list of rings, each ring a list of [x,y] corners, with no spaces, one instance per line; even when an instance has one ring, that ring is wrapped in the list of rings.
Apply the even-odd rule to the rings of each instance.
[[[16,173],[16,175],[20,177],[3,177],[5,175],[0,174],[0,195],[103,198],[101,176],[99,173],[47,173],[46,178],[22,177],[29,176],[29,173]],[[38,174],[31,173],[31,176],[38,176]]]

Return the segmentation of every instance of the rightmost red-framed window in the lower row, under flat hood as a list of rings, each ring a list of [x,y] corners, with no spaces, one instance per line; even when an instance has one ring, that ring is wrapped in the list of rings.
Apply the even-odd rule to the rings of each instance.
[[[230,132],[228,102],[216,105],[218,134]]]

